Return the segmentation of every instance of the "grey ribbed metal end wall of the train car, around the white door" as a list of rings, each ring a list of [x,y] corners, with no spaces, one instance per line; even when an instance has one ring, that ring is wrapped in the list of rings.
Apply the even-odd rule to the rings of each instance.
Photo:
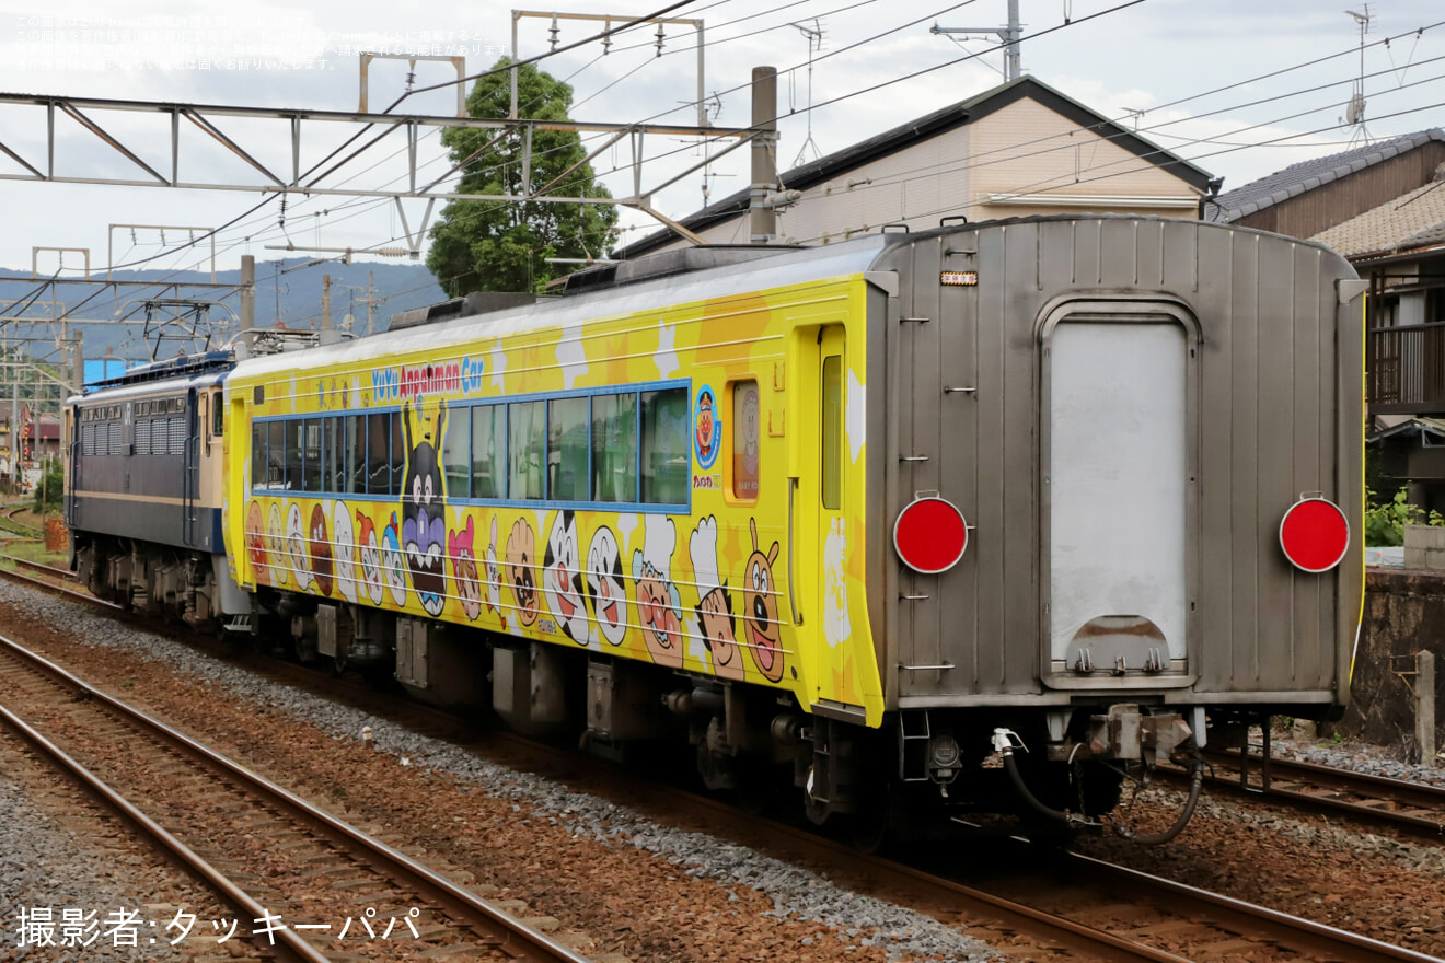
[[[967,247],[977,248],[967,267],[942,254]],[[1045,430],[1035,325],[1069,299],[1169,300],[1201,328],[1191,388],[1199,476],[1191,671],[1198,679],[1189,689],[1160,689],[1160,697],[1222,703],[1254,692],[1277,703],[1286,693],[1285,702],[1318,705],[1342,689],[1358,614],[1358,556],[1308,575],[1279,547],[1280,518],[1306,491],[1340,504],[1357,540],[1361,531],[1360,484],[1353,479],[1361,322],[1358,300],[1354,308],[1335,300],[1335,280],[1354,276],[1342,258],[1247,230],[1077,217],[915,235],[884,251],[877,266],[905,279],[903,316],[935,319],[897,325],[899,367],[889,377],[899,422],[889,458],[919,453],[931,461],[899,466],[897,484],[881,501],[884,527],[916,491],[932,487],[977,526],[964,560],[939,576],[913,575],[890,544],[881,547],[899,565],[897,592],[929,595],[896,602],[897,638],[889,644],[897,660],[954,666],[903,671],[899,699],[948,705],[952,693],[958,705],[988,705],[994,694],[1003,705],[1042,692]],[[978,286],[942,289],[944,269],[975,269]],[[977,393],[944,396],[945,385]],[[1094,692],[1111,686],[1097,681]],[[899,705],[889,692],[889,705]]]

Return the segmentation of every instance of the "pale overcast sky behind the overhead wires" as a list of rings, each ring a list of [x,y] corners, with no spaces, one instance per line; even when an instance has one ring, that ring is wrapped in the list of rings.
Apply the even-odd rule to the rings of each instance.
[[[465,55],[468,72],[490,66],[512,42],[510,6],[491,0],[471,3],[318,0],[302,10],[293,4],[256,0],[246,4],[197,4],[130,0],[126,4],[58,3],[6,4],[0,16],[0,90],[23,94],[65,94],[147,101],[236,104],[288,108],[355,110],[357,51]],[[636,16],[662,6],[613,7],[575,3],[572,12]],[[1025,23],[1023,69],[1108,117],[1143,111],[1142,134],[1217,176],[1225,189],[1289,163],[1342,149],[1357,131],[1341,126],[1351,81],[1360,74],[1355,19],[1338,4],[1311,0],[1144,0],[1108,12],[1110,0],[1020,0]],[[120,13],[120,10],[124,13]],[[198,10],[214,13],[198,13]],[[1358,4],[1357,12],[1364,9]],[[1367,43],[1397,38],[1386,48],[1364,52],[1366,128],[1390,137],[1445,124],[1445,6],[1438,0],[1381,0],[1373,14]],[[1094,19],[1094,14],[1101,14]],[[696,0],[672,16],[701,17],[707,27],[704,87],[712,101],[714,123],[746,126],[749,95],[738,90],[756,65],[785,74],[779,85],[782,141],[779,160],[789,167],[811,159],[812,147],[834,152],[863,137],[905,123],[931,110],[1001,82],[1001,56],[985,52],[993,42],[964,46],[932,35],[935,22],[949,27],[998,27],[1006,0],[946,4],[920,0]],[[912,26],[906,26],[915,22]],[[1065,23],[1068,20],[1068,23]],[[809,39],[793,23],[821,27],[821,51],[814,48],[809,98]],[[539,19],[520,22],[519,53],[548,49],[548,27]],[[561,22],[559,42],[595,33],[600,25]],[[1410,32],[1423,27],[1416,36]],[[893,30],[893,32],[890,32]],[[1410,33],[1409,36],[1400,36]],[[601,56],[600,45],[561,53],[543,62],[575,88],[574,117],[634,121],[657,117],[692,123],[688,107],[696,90],[696,56],[691,27],[666,30],[663,56],[656,56],[653,30],[614,40]],[[418,45],[426,45],[418,49]],[[970,52],[980,53],[974,59]],[[1322,62],[1300,66],[1309,61]],[[958,61],[958,62],[954,62]],[[928,69],[936,68],[936,69]],[[1292,69],[1298,68],[1298,69]],[[915,71],[922,75],[880,87]],[[380,61],[371,66],[370,103],[384,107],[406,90],[407,65]],[[1273,74],[1273,77],[1267,77]],[[416,84],[454,78],[449,65],[422,62]],[[1233,90],[1211,94],[1218,88]],[[608,87],[611,85],[611,87]],[[605,90],[604,90],[605,88]],[[1315,90],[1318,88],[1318,90]],[[866,92],[858,92],[866,91]],[[853,95],[857,94],[857,95]],[[808,111],[809,103],[838,100]],[[447,114],[455,108],[449,91],[412,97],[405,110]],[[670,113],[669,113],[670,111]],[[793,113],[790,117],[788,116]],[[811,131],[809,118],[811,117]],[[158,170],[169,170],[169,121],[163,117],[94,111],[91,118],[130,146]],[[285,126],[218,120],[221,127],[267,165],[289,167]],[[43,108],[0,107],[0,143],[36,167],[45,166]],[[303,143],[303,167],[319,160],[354,128],[315,130]],[[72,176],[147,175],[120,157],[64,116],[56,121],[56,170]],[[811,141],[809,139],[811,133]],[[1264,144],[1264,146],[1261,146]],[[405,141],[387,137],[351,160],[327,183],[381,189],[399,183]],[[806,149],[806,153],[805,153]],[[649,139],[643,185],[656,183],[701,159],[695,143]],[[420,140],[423,173],[439,176],[448,165],[435,131]],[[626,141],[605,150],[595,167],[607,175],[614,195],[631,193],[630,152]],[[23,169],[0,154],[0,173]],[[712,199],[747,185],[747,152],[714,166]],[[254,180],[240,162],[192,127],[182,134],[182,178],[217,176]],[[90,248],[92,267],[107,263],[113,244],[116,264],[178,269],[210,257],[202,248],[178,248],[176,230],[110,228],[162,224],[217,227],[233,221],[264,195],[259,192],[173,191],[162,188],[71,186],[22,180],[0,182],[6,231],[0,235],[0,266],[29,267],[33,247]],[[702,202],[702,175],[689,175],[659,193],[655,205],[681,218]],[[409,227],[418,228],[425,202],[406,202]],[[390,202],[348,198],[292,196],[285,225],[277,202],[220,232],[217,258],[234,267],[240,254],[276,258],[267,245],[289,238],[296,245],[399,247],[405,234]],[[650,231],[655,222],[624,212],[627,225]],[[640,237],[623,235],[623,243]],[[247,240],[249,238],[249,240]],[[158,257],[159,256],[159,257]],[[39,266],[51,274],[59,254],[43,251]],[[147,260],[149,258],[149,260]],[[81,263],[65,254],[65,267]],[[69,270],[66,271],[69,273]]]

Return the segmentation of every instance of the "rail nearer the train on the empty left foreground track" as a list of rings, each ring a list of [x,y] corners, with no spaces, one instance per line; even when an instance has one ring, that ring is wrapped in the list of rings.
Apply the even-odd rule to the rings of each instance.
[[[423,897],[442,907],[452,915],[464,920],[478,930],[488,931],[491,937],[490,949],[500,950],[514,960],[533,960],[536,963],[587,963],[587,957],[556,943],[546,934],[526,925],[520,920],[509,915],[503,910],[462,889],[441,873],[423,866],[410,856],[392,849],[386,843],[367,836],[358,829],[344,823],[331,813],[321,810],[290,791],[276,785],[270,780],[251,772],[228,758],[215,752],[210,746],[172,729],[163,722],[140,712],[114,696],[85,683],[65,668],[49,661],[43,655],[29,651],[19,642],[0,635],[0,651],[10,653],[19,660],[29,663],[33,668],[51,676],[62,686],[74,687],[85,693],[90,699],[110,707],[126,722],[150,732],[160,741],[179,749],[186,757],[199,761],[202,765],[223,774],[241,784],[247,791],[260,797],[266,804],[280,810],[289,819],[306,826],[331,845],[351,852],[368,863],[379,875],[390,878],[405,886],[410,886],[419,897]],[[322,960],[325,957],[321,957]]]

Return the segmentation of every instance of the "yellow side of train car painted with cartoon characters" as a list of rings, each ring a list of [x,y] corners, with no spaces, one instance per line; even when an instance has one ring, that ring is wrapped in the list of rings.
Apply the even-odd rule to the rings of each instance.
[[[712,251],[749,261],[663,297],[618,287],[241,361],[236,580],[332,657],[380,654],[393,632],[370,611],[400,616],[405,684],[496,696],[523,725],[564,715],[530,645],[551,642],[877,726],[879,661],[867,618],[850,618],[867,606],[874,253],[773,270],[757,254]],[[491,693],[461,679],[480,645],[455,629],[500,642]],[[605,735],[653,715],[608,712]]]

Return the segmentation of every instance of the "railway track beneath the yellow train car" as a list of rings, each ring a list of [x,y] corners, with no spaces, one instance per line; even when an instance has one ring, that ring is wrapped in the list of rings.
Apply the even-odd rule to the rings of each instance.
[[[116,606],[71,592],[52,582],[7,573],[38,588],[97,605],[111,614]],[[155,628],[149,625],[149,628]],[[402,699],[393,699],[360,684],[348,684],[292,663],[256,657],[247,660],[288,683],[328,697],[341,696],[367,712],[403,720],[442,738],[486,742],[499,748],[516,765],[566,781],[578,788],[608,796],[666,817],[681,817],[707,832],[769,852],[777,858],[821,869],[835,881],[850,881],[863,891],[899,901],[948,923],[965,923],[980,938],[1003,951],[1025,957],[1152,960],[1178,963],[1186,959],[1233,959],[1248,954],[1256,960],[1400,960],[1425,963],[1435,957],[1358,937],[1263,907],[1208,894],[1162,878],[1111,866],[1082,856],[1040,856],[1038,849],[1019,850],[1019,842],[993,840],[1004,846],[998,858],[971,858],[970,865],[997,868],[1036,865],[1035,875],[1003,879],[968,878],[958,866],[929,865],[926,856],[913,865],[864,856],[850,846],[785,823],[760,820],[711,797],[675,787],[640,781],[617,768],[536,744],[514,733],[468,731],[455,716]],[[959,852],[961,846],[949,846]]]

